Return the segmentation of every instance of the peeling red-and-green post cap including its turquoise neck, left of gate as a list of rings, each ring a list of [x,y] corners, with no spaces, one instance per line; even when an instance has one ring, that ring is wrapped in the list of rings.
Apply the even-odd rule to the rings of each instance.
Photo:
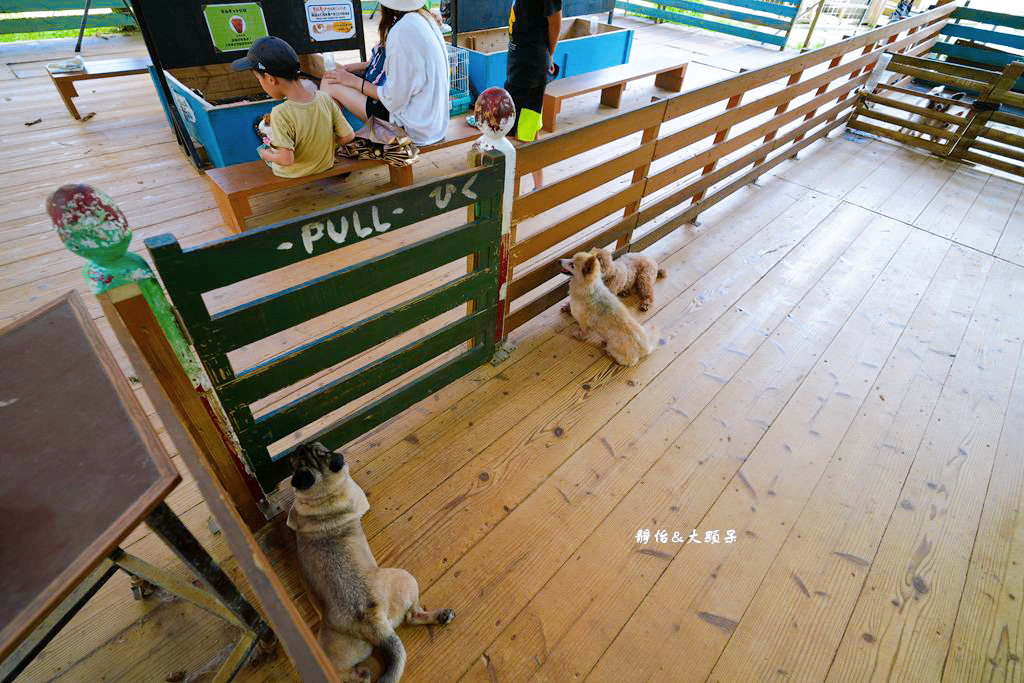
[[[86,259],[85,276],[95,293],[153,276],[138,254],[129,254],[131,228],[105,193],[81,183],[62,185],[46,200],[46,212],[69,251]]]

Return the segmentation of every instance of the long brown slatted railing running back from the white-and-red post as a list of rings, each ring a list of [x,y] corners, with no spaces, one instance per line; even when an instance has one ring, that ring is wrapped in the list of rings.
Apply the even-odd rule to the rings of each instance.
[[[589,161],[515,199],[506,332],[566,296],[558,259],[611,243],[618,253],[646,249],[842,126],[857,101],[851,94],[883,52],[927,53],[954,8],[939,7],[521,147],[517,178]],[[615,144],[610,158],[598,150],[609,143]],[[545,219],[563,205],[585,208]]]

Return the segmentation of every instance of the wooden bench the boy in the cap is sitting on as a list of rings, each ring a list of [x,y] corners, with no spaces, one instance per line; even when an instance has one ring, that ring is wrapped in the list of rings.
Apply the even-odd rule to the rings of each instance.
[[[420,147],[420,154],[441,150],[443,147],[476,139],[480,131],[466,123],[465,117],[456,117],[449,122],[449,132],[443,140],[435,144]],[[246,230],[246,217],[252,214],[249,198],[263,195],[286,187],[305,185],[315,180],[331,178],[351,171],[379,166],[383,162],[366,159],[339,159],[335,165],[323,173],[306,175],[301,178],[282,178],[273,174],[270,167],[262,161],[234,164],[223,168],[212,168],[206,172],[210,181],[210,189],[224,217],[224,224],[233,232]],[[414,164],[415,165],[415,164]],[[391,184],[407,187],[413,184],[413,167],[395,168],[388,166],[391,173]]]

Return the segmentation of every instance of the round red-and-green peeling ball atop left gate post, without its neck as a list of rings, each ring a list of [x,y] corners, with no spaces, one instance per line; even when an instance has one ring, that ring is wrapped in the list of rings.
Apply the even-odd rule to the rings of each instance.
[[[128,220],[105,193],[92,185],[62,185],[46,200],[46,212],[60,241],[96,263],[117,261],[128,251]]]

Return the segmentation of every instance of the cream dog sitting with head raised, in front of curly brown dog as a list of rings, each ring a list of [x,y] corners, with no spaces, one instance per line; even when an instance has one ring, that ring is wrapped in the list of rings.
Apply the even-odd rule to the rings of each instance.
[[[608,355],[621,366],[634,366],[657,346],[657,333],[644,330],[601,280],[595,254],[580,252],[560,261],[569,281],[569,312],[580,324],[572,336],[593,344],[605,343]]]

